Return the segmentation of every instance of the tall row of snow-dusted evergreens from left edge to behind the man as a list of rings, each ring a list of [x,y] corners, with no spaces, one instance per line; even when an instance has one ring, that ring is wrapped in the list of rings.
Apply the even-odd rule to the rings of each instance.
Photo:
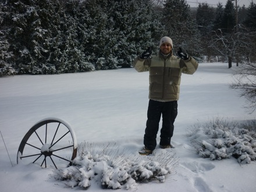
[[[0,13],[0,75],[130,67],[163,35],[190,54],[198,51],[189,6],[173,3],[170,23],[151,0],[6,0]]]

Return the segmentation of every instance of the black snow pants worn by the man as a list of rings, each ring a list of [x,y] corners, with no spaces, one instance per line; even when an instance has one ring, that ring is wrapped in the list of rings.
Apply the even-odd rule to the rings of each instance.
[[[162,129],[160,134],[160,145],[169,145],[173,136],[174,126],[177,116],[177,101],[159,102],[151,100],[148,103],[148,120],[144,134],[144,145],[149,150],[154,150],[157,146],[157,133],[162,115]]]

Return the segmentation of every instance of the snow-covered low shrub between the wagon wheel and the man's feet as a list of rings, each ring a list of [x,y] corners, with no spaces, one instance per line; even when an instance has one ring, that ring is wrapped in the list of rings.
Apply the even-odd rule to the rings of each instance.
[[[165,182],[166,176],[175,173],[177,165],[177,158],[170,152],[141,156],[119,150],[116,144],[95,147],[83,143],[72,165],[56,170],[54,178],[72,188],[87,188],[91,180],[97,180],[107,189],[131,189],[136,182]]]

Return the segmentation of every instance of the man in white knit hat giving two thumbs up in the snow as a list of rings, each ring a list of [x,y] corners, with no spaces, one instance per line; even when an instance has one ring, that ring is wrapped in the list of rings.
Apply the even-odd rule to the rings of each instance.
[[[147,112],[147,123],[144,134],[144,148],[141,155],[152,154],[157,146],[157,133],[162,115],[160,135],[161,148],[173,148],[170,139],[173,136],[175,118],[177,116],[177,100],[180,92],[182,73],[193,74],[198,63],[180,48],[173,55],[172,39],[163,37],[159,44],[158,55],[153,55],[151,48],[143,52],[133,62],[137,72],[150,72],[150,93]]]

